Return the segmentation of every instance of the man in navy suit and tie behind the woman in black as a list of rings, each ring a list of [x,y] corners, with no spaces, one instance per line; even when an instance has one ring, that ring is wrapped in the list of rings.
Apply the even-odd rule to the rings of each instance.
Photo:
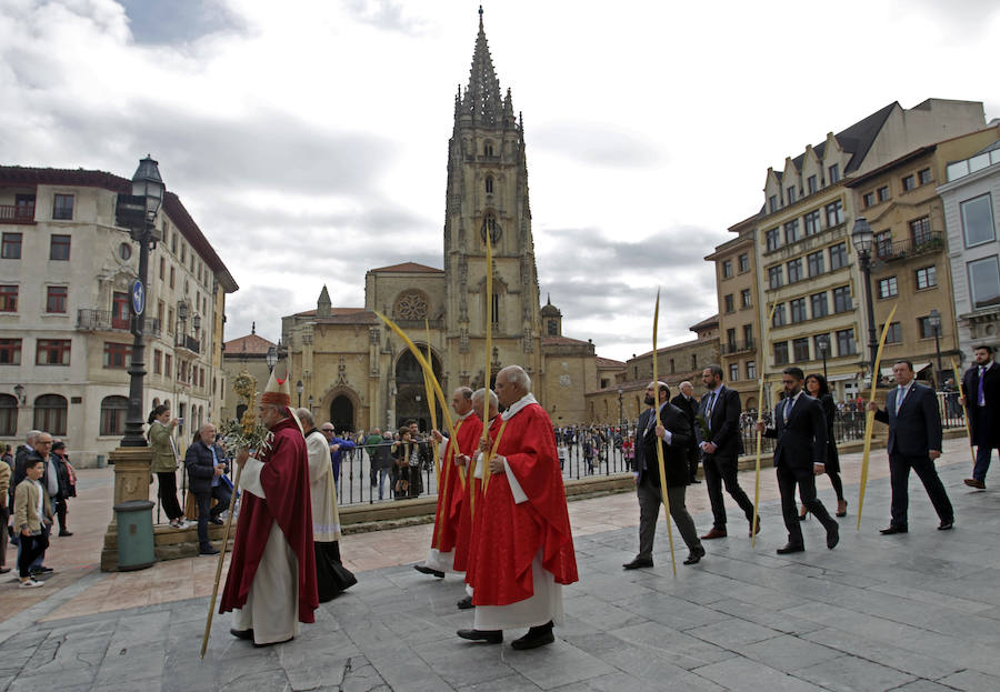
[[[941,455],[941,413],[934,390],[914,382],[913,363],[897,361],[892,365],[892,377],[898,387],[889,390],[886,409],[876,402],[868,408],[876,412],[876,420],[889,425],[889,477],[892,483],[892,520],[883,535],[906,533],[909,497],[907,484],[910,469],[917,472],[924,490],[938,512],[940,531],[954,524],[954,510],[944,492],[944,485],[934,469],[934,459]]]

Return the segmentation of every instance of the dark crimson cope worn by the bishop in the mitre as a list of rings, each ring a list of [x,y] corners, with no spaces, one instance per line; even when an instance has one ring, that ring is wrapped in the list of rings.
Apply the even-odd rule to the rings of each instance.
[[[263,469],[260,484],[267,499],[244,492],[233,541],[232,559],[219,612],[247,604],[250,584],[260,564],[271,522],[281,528],[299,561],[299,622],[316,622],[319,608],[316,590],[316,558],[312,546],[312,503],[309,495],[309,457],[306,438],[291,419],[278,423],[271,432],[270,448],[260,457]]]

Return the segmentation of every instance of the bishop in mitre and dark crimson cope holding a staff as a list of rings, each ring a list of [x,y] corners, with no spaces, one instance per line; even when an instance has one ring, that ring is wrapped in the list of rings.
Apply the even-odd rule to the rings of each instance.
[[[319,601],[309,455],[288,378],[271,373],[258,414],[270,433],[256,459],[247,450],[236,458],[242,498],[219,612],[233,611],[234,636],[264,646],[292,639],[299,622],[314,622]]]

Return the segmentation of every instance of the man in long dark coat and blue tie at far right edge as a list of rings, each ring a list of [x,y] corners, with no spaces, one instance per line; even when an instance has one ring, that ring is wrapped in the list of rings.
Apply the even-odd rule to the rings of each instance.
[[[976,445],[976,465],[966,485],[986,490],[990,454],[1000,449],[1000,365],[993,362],[993,347],[973,351],[976,364],[962,378],[962,403],[969,411],[969,428]]]

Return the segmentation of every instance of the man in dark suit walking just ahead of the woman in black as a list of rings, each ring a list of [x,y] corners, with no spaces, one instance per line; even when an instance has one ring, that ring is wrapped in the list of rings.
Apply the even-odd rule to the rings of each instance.
[[[801,368],[786,368],[781,375],[784,399],[774,407],[774,428],[763,421],[757,430],[767,438],[777,438],[774,468],[778,472],[778,490],[781,492],[781,514],[788,529],[788,543],[778,554],[799,553],[806,550],[802,526],[796,509],[796,485],[802,504],[827,530],[827,548],[833,550],[840,541],[840,529],[816,497],[816,474],[823,473],[827,460],[827,420],[820,402],[806,392],[806,373]]]

